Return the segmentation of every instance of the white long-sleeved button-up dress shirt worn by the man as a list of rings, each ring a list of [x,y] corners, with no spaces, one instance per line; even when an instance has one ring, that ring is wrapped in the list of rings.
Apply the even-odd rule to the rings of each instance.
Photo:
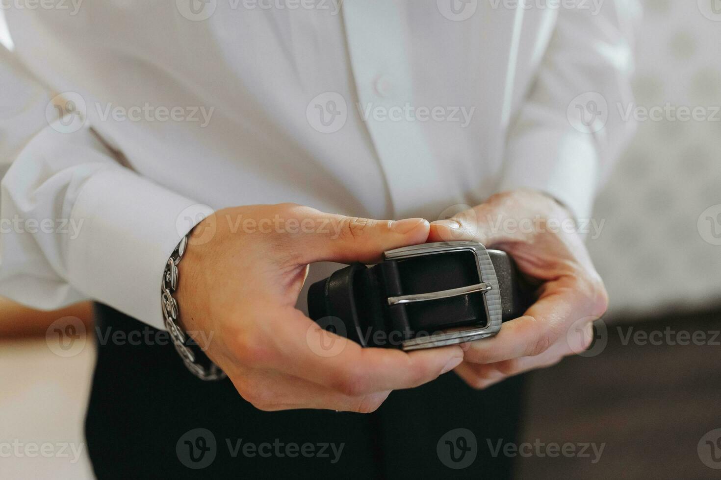
[[[526,186],[588,217],[631,130],[626,2],[63,4],[6,9],[0,63],[0,294],[43,309],[162,328],[200,205],[433,220]]]

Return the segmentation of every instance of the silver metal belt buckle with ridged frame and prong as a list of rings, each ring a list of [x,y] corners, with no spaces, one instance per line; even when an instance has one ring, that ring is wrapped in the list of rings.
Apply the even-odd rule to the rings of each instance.
[[[456,345],[457,343],[472,342],[481,338],[491,337],[497,334],[501,324],[500,289],[495,268],[488,255],[486,248],[477,242],[436,242],[423,245],[412,245],[410,247],[396,248],[384,253],[386,260],[403,260],[404,258],[422,257],[425,255],[439,255],[443,253],[454,253],[459,251],[472,252],[476,257],[479,283],[463,286],[459,289],[433,291],[425,294],[412,294],[402,296],[390,296],[389,305],[407,304],[413,302],[429,302],[437,299],[445,299],[451,296],[459,296],[480,292],[483,297],[483,306],[488,320],[485,327],[462,327],[451,329],[446,332],[436,333],[410,340],[404,340],[402,349],[420,350],[422,348],[442,347],[444,345]]]

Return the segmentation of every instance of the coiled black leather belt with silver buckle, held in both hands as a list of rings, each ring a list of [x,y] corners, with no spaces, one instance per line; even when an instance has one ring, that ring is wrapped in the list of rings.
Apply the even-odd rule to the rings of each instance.
[[[531,304],[531,286],[501,250],[475,242],[397,248],[310,286],[312,320],[364,347],[440,347],[495,335]]]

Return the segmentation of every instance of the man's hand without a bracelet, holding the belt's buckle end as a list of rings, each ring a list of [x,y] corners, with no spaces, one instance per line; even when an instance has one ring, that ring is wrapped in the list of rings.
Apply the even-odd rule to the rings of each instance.
[[[504,322],[495,337],[462,345],[455,371],[483,389],[509,376],[558,363],[593,339],[591,322],[608,296],[570,213],[538,191],[515,190],[448,220],[430,224],[429,242],[474,240],[505,250],[527,276],[542,283],[523,317]]]

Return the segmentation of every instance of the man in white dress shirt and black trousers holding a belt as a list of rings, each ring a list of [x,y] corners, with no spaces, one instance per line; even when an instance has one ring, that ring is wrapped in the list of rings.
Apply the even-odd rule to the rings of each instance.
[[[555,226],[588,218],[629,133],[612,108],[627,101],[626,6],[324,5],[7,11],[5,68],[60,94],[17,134],[2,218],[76,228],[2,232],[0,292],[94,299],[100,332],[146,339],[98,339],[100,478],[447,474],[458,428],[453,457],[477,440],[478,458],[454,473],[508,476],[485,439],[513,439],[520,384],[474,389],[580,351],[606,309],[580,235]],[[225,380],[196,379],[151,328],[188,233],[164,302]],[[507,250],[538,301],[463,348],[314,350],[330,334],[304,286],[337,268],[317,262],[435,240]]]

